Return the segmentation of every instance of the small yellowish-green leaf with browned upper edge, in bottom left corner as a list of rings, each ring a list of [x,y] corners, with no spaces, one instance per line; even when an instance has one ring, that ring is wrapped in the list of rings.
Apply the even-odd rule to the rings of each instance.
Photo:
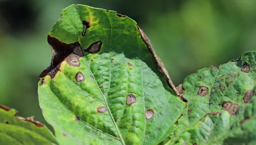
[[[51,131],[33,117],[16,116],[16,110],[0,105],[0,142],[4,145],[58,144]]]

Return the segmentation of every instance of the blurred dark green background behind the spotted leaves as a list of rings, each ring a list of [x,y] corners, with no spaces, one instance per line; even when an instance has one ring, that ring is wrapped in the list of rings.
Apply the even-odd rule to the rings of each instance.
[[[0,104],[35,116],[39,74],[53,53],[47,34],[73,3],[118,11],[149,36],[175,85],[198,69],[256,50],[255,0],[0,0]]]

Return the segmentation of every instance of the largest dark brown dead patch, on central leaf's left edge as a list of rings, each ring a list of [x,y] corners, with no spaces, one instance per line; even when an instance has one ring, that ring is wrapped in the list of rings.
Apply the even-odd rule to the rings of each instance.
[[[71,53],[75,54],[78,58],[83,57],[82,49],[78,42],[66,44],[49,35],[47,37],[47,40],[49,45],[51,46],[51,50],[53,51],[54,55],[51,59],[51,65],[47,69],[43,70],[43,72],[39,76],[40,78],[46,75],[54,78],[56,73],[59,71],[58,67],[61,62]]]

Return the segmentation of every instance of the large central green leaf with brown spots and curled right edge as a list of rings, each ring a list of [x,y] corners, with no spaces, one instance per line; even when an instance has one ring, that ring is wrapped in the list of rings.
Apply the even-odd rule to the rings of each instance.
[[[134,20],[71,5],[48,43],[38,95],[60,144],[154,145],[176,129],[186,100]]]

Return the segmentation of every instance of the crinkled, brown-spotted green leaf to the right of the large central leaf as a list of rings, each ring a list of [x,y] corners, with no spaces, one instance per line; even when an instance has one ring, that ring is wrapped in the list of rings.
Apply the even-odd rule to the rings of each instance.
[[[256,51],[184,79],[188,101],[167,144],[244,144],[256,138]],[[183,90],[182,90],[183,88]]]

